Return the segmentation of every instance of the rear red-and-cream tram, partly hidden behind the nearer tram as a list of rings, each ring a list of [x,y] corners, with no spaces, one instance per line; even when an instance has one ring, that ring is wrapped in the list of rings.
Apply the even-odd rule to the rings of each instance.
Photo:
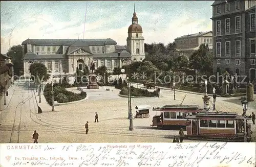
[[[165,105],[153,108],[153,111],[160,111],[162,114],[153,116],[152,127],[176,130],[186,129],[186,116],[196,115],[197,112],[200,112],[200,109],[197,105]]]

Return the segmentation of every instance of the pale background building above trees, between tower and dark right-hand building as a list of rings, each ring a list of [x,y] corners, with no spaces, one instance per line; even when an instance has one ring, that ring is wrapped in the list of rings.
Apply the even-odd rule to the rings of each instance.
[[[194,51],[199,49],[201,44],[208,44],[209,49],[212,49],[212,32],[199,32],[196,34],[183,35],[174,39],[176,50],[188,58]]]

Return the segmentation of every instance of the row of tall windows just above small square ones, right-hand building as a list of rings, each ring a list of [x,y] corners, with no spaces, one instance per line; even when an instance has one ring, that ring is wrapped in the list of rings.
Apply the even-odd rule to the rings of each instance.
[[[225,55],[226,57],[230,57],[230,41],[225,42]],[[236,40],[236,57],[241,56],[241,40]],[[216,49],[217,49],[217,57],[221,57],[221,42],[216,42]],[[254,56],[255,55],[255,40],[252,39],[250,40],[250,55]]]

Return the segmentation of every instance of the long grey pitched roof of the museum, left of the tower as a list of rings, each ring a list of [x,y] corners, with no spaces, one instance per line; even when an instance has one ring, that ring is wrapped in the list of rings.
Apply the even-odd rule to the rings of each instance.
[[[26,39],[22,42],[22,45],[45,45],[45,46],[59,46],[59,45],[77,45],[89,46],[89,45],[116,45],[117,42],[111,38],[106,39]]]

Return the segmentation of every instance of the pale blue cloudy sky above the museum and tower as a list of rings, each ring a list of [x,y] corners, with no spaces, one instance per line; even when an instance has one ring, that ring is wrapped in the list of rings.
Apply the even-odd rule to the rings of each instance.
[[[213,2],[1,1],[1,53],[28,38],[112,38],[126,45],[134,4],[144,42],[167,44],[182,35],[211,31]]]

